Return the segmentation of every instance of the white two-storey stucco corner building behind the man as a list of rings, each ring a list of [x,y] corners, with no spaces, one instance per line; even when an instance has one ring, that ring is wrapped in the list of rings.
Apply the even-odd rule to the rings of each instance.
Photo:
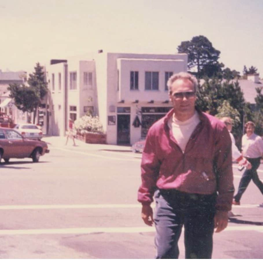
[[[166,82],[187,71],[187,54],[91,54],[51,60],[47,133],[65,135],[68,119],[92,111],[108,144],[133,144],[172,107]],[[50,112],[50,113],[49,113]]]

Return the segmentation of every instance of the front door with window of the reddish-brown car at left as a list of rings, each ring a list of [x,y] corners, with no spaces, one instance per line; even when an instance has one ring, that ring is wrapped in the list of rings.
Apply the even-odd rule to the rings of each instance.
[[[14,130],[6,130],[5,134],[13,158],[24,158],[30,155],[30,147],[24,143],[24,139],[19,133]]]

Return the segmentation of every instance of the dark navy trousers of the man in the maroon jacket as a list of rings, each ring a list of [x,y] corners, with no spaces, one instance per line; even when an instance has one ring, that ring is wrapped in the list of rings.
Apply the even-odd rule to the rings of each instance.
[[[155,191],[155,202],[156,258],[179,257],[178,240],[183,226],[185,258],[211,258],[216,194],[187,194],[158,189]]]

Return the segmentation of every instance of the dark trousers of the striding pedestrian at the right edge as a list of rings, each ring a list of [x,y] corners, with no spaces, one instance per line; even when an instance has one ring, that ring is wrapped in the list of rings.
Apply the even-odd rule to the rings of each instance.
[[[257,169],[260,165],[260,159],[259,158],[247,158],[247,160],[251,163],[252,168],[249,170],[245,170],[242,174],[239,186],[238,186],[238,192],[234,196],[234,199],[236,202],[239,202],[241,199],[242,194],[246,191],[251,179],[253,183],[258,187],[261,194],[263,194],[263,183],[260,181],[257,173]]]

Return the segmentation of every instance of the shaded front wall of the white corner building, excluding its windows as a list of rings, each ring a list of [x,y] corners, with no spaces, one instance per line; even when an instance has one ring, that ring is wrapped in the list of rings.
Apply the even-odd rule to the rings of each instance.
[[[130,71],[139,72],[138,90],[130,90]],[[145,71],[159,72],[159,90],[145,90]],[[134,127],[132,125],[136,116],[140,122],[142,121],[142,107],[170,108],[172,106],[170,102],[164,103],[169,100],[168,91],[165,90],[165,71],[172,71],[173,73],[187,71],[187,55],[108,53],[106,111],[100,113],[100,119],[102,118],[106,122],[108,144],[118,143],[118,115],[125,115],[130,118],[129,144],[133,144],[142,137],[141,126]],[[135,103],[136,100],[138,103]],[[149,103],[151,100],[153,103]],[[118,113],[118,108],[130,108],[130,112]],[[159,113],[150,114],[158,115]],[[102,115],[104,116],[102,117]],[[108,116],[115,118],[115,125],[107,122]]]

